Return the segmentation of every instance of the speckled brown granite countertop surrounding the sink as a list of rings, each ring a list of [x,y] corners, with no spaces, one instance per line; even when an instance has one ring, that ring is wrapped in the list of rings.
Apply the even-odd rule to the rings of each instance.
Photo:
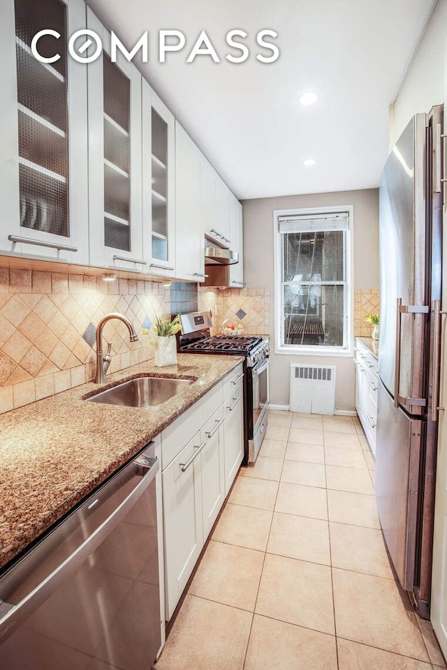
[[[61,519],[198,401],[240,361],[237,356],[179,354],[177,365],[153,361],[108,375],[0,415],[0,568]],[[149,408],[83,399],[138,375],[196,378]]]

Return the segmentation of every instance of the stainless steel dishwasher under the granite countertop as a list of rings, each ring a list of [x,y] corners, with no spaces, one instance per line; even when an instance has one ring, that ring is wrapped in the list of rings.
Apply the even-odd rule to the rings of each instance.
[[[1,670],[149,670],[161,645],[154,442],[0,578]]]

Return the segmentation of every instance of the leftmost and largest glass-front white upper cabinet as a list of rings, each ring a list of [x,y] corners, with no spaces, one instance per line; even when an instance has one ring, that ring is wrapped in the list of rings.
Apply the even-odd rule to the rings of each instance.
[[[83,0],[1,3],[0,249],[8,254],[88,262],[87,71],[68,57],[85,28]],[[31,40],[43,29],[60,34]],[[8,239],[12,237],[12,239]]]

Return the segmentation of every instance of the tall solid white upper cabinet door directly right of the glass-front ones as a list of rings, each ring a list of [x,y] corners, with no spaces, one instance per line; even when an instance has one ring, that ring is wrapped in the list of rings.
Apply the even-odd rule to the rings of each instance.
[[[175,123],[176,276],[205,279],[204,207],[200,193],[202,155],[182,126]]]

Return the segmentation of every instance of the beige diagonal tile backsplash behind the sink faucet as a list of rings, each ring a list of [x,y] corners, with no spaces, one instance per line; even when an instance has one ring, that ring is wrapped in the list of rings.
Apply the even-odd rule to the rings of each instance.
[[[154,356],[142,325],[170,315],[161,283],[0,268],[0,412],[94,378],[94,330],[110,312],[126,315],[139,341],[118,320],[103,329],[112,342],[110,371]]]

